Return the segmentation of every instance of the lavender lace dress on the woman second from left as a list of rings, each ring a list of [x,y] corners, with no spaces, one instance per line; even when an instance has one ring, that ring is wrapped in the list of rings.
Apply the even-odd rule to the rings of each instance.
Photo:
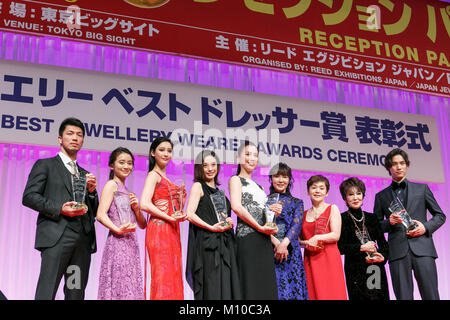
[[[116,182],[116,181],[115,181]],[[117,182],[116,182],[117,183]],[[126,187],[117,183],[117,192],[129,194]],[[108,217],[120,226],[119,212],[114,198],[108,210]],[[122,200],[123,201],[123,200]],[[136,223],[136,216],[130,208],[130,221]],[[99,300],[143,300],[142,270],[136,232],[117,235],[109,231],[103,249],[98,286]]]

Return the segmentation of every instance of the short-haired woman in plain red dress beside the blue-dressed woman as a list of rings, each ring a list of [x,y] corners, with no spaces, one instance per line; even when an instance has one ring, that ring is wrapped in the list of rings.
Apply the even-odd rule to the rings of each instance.
[[[310,300],[347,300],[344,270],[337,241],[341,235],[341,214],[325,203],[330,183],[322,175],[307,183],[312,207],[305,211],[301,244],[305,246],[306,284]]]

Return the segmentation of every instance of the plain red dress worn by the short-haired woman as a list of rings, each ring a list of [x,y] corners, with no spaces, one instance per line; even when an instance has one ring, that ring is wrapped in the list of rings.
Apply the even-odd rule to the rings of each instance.
[[[316,225],[326,226],[323,233],[330,232],[327,223],[331,214],[331,205],[314,221],[306,220],[305,211],[302,227],[302,238],[310,239],[315,234]],[[305,250],[305,273],[310,300],[347,300],[345,277],[342,268],[341,254],[337,242],[326,243],[319,252]]]

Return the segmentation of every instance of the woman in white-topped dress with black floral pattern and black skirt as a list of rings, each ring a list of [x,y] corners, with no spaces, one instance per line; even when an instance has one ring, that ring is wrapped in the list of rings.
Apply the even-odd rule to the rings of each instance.
[[[252,179],[258,164],[258,149],[246,141],[238,149],[237,174],[230,179],[231,208],[238,216],[236,227],[237,258],[242,298],[277,300],[277,279],[270,235],[278,229],[265,226],[267,196]],[[271,206],[273,211],[281,211]]]

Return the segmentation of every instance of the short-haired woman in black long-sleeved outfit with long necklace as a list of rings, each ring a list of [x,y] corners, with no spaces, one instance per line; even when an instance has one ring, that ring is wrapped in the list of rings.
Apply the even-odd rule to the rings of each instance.
[[[348,206],[342,213],[338,247],[345,255],[344,271],[349,300],[389,300],[384,265],[388,244],[373,213],[362,211],[366,187],[358,178],[341,183],[340,192]]]

